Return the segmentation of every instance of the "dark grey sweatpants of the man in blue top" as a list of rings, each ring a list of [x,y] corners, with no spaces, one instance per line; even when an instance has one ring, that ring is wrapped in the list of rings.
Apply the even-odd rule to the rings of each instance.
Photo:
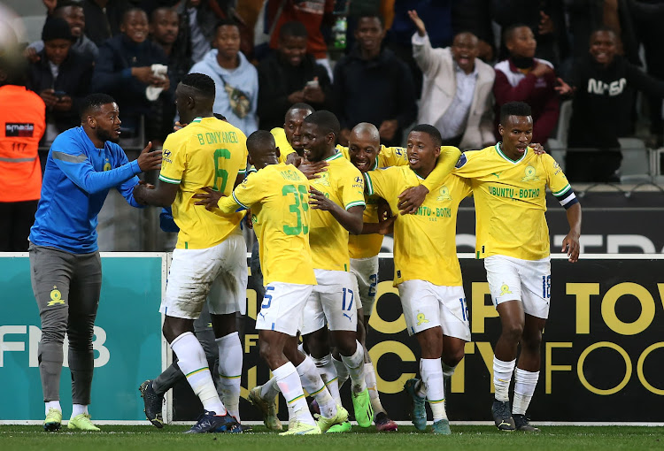
[[[30,244],[30,279],[39,316],[39,372],[44,401],[60,399],[62,344],[69,339],[73,404],[88,405],[94,369],[92,337],[102,287],[99,252],[72,254]]]

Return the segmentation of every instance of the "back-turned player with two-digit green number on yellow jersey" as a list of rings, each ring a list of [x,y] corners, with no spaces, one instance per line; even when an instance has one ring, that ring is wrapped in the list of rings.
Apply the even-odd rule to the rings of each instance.
[[[232,196],[220,198],[221,193],[208,187],[208,194],[197,197],[205,199],[201,203],[208,208],[218,206],[226,214],[251,208],[259,238],[266,294],[256,328],[260,354],[273,371],[276,384],[271,381],[252,388],[249,400],[263,412],[270,429],[281,429],[274,415],[275,390],[281,389],[290,416],[289,431],[283,433],[320,433],[347,420],[348,412],[340,406],[337,409],[312,359],[297,350],[302,311],[316,285],[309,247],[309,181],[292,164],[278,163],[279,149],[272,134],[254,132],[247,139],[247,148],[250,164],[258,172],[236,187]],[[318,401],[321,428],[309,413],[303,386]]]

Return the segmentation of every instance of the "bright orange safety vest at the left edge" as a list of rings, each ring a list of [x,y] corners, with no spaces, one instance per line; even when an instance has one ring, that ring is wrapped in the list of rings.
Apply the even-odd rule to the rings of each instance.
[[[42,97],[22,86],[0,87],[0,202],[39,199],[42,164],[37,149],[45,129]]]

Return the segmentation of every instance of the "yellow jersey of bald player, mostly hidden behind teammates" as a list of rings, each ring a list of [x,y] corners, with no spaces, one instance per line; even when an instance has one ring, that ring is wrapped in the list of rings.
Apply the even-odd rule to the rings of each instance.
[[[351,160],[351,155],[347,147],[338,145],[336,146],[336,149],[343,153],[346,159],[349,161]],[[454,149],[456,152],[459,152],[459,149],[453,148],[451,146],[441,147],[442,152],[444,152],[445,149]],[[444,153],[444,155],[447,154]],[[458,158],[459,153],[454,153],[452,154],[450,161],[456,162]],[[408,156],[406,154],[405,148],[385,147],[381,145],[381,151],[378,153],[378,156],[375,159],[375,164],[372,168],[372,171],[378,168],[407,165]],[[429,177],[427,177],[426,180],[422,180],[422,185],[427,187],[429,192],[433,192],[436,190],[436,188],[443,184],[443,181],[448,173],[449,169],[445,170],[443,164],[436,164],[436,168],[429,174]],[[376,196],[366,195],[365,202],[367,203],[367,208],[364,210],[363,221],[366,223],[377,223],[378,200]],[[398,214],[398,210],[392,210],[392,213]],[[383,235],[380,233],[362,233],[360,235],[351,235],[348,241],[348,251],[351,254],[351,258],[368,258],[377,256],[381,252],[382,236]]]

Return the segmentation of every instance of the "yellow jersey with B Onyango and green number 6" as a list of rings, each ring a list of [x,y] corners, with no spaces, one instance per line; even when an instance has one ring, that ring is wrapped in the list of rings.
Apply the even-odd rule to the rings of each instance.
[[[180,185],[173,203],[173,218],[180,227],[176,248],[212,248],[240,224],[244,213],[226,217],[194,205],[193,195],[203,187],[230,195],[238,174],[247,166],[247,138],[218,118],[195,118],[169,134],[164,142],[159,180]]]

